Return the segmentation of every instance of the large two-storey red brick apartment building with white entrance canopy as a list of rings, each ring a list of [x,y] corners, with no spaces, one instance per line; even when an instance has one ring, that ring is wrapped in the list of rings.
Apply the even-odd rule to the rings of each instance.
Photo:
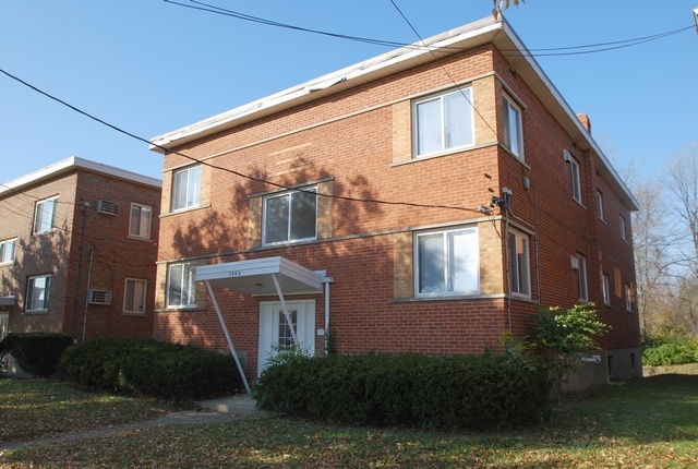
[[[152,140],[156,338],[230,348],[253,381],[273,344],[479,353],[593,301],[613,329],[588,372],[641,374],[638,204],[589,119],[506,22],[425,44]]]

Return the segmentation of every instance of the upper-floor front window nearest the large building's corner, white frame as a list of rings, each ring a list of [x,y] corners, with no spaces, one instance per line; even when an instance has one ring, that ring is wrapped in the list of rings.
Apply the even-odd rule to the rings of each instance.
[[[472,88],[416,100],[412,107],[417,157],[474,145]]]

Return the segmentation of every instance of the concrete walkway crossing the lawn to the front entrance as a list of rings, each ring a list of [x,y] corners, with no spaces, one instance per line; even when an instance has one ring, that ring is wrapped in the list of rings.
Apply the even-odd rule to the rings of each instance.
[[[196,402],[202,410],[183,410],[170,412],[165,417],[144,422],[115,425],[105,429],[91,430],[88,432],[68,433],[50,438],[37,438],[26,442],[0,443],[0,456],[8,449],[16,449],[29,445],[41,445],[73,440],[93,438],[115,432],[123,432],[135,429],[147,429],[159,425],[192,425],[231,422],[241,417],[262,416],[264,412],[255,409],[256,401],[248,394],[224,397],[219,399],[203,400]]]

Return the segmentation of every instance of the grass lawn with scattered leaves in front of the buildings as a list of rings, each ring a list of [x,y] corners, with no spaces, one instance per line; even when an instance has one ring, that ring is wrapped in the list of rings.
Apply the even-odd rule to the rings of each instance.
[[[34,383],[0,380],[3,440],[19,418],[25,432],[40,422],[58,433],[61,426],[87,428],[85,420],[115,423],[109,420],[121,408],[134,419],[161,409],[137,399],[105,404],[106,396],[73,395],[51,381],[23,390]],[[40,396],[27,401],[17,393]],[[142,411],[128,410],[137,406]],[[52,416],[72,423],[49,423]],[[12,437],[23,438],[17,433]],[[0,456],[0,467],[698,468],[698,375],[657,375],[575,396],[554,410],[547,425],[532,430],[474,434],[241,418],[29,446]]]

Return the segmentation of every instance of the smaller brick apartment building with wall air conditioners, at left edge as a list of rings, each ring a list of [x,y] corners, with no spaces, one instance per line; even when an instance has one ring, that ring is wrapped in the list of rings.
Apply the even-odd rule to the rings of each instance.
[[[77,157],[0,185],[2,332],[152,337],[160,191]]]

